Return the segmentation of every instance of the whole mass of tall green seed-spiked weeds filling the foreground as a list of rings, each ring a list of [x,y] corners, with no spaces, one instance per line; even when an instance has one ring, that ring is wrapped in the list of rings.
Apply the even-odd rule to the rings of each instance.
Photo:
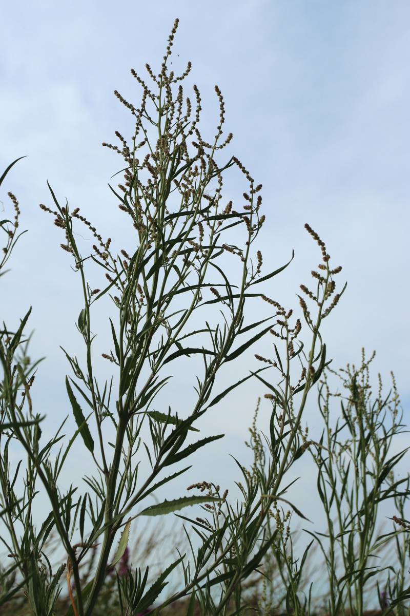
[[[181,76],[167,67],[177,26],[178,20],[160,72],[146,65],[152,85],[132,71],[143,91],[140,106],[115,92],[133,117],[130,139],[116,132],[119,145],[103,144],[123,159],[124,183],[111,190],[134,233],[132,245],[114,252],[114,241],[103,239],[78,207],[61,206],[51,188],[52,205],[41,205],[64,234],[61,248],[84,296],[76,322],[84,354],[78,359],[65,351],[71,370],[65,389],[77,426],[68,440],[64,423],[49,442],[42,439],[45,418],[32,394],[37,363],[26,352],[30,310],[20,325],[4,324],[0,331],[1,541],[11,563],[1,570],[1,613],[339,616],[347,610],[361,616],[371,603],[380,614],[410,614],[404,519],[409,478],[394,475],[406,452],[394,449],[404,428],[394,380],[388,395],[381,382],[373,395],[364,354],[359,368],[330,370],[321,326],[345,287],[336,293],[341,267],[330,265],[325,242],[308,224],[321,261],[312,270],[313,287],[301,285],[300,317],[267,296],[267,283],[287,264],[264,273],[266,263],[254,248],[265,220],[262,187],[237,158],[217,160],[232,137],[222,140],[225,110],[218,87],[216,135],[202,136],[199,90],[194,86],[193,104],[181,84],[191,64]],[[223,198],[229,169],[245,182],[240,206]],[[0,269],[19,237],[20,209],[9,196],[15,217],[1,221],[6,245]],[[76,225],[85,225],[95,241],[85,257]],[[107,380],[98,375],[93,345],[100,306],[110,315],[102,354],[112,371]],[[252,320],[258,306],[269,307],[270,314]],[[219,379],[223,367],[234,367],[265,336],[272,336],[272,357],[254,355],[262,367],[237,380],[231,368],[229,383],[226,376]],[[186,357],[197,370],[195,398],[178,415],[164,392]],[[341,378],[340,392],[329,384],[334,376]],[[259,400],[247,443],[253,463],[237,463],[240,497],[231,500],[228,490],[202,481],[189,485],[186,496],[162,500],[161,488],[178,485],[175,480],[191,468],[187,458],[224,436],[198,438],[198,420],[250,378],[265,392],[270,420],[262,433]],[[317,436],[302,427],[312,391],[319,392],[323,418]],[[334,396],[340,413],[334,412]],[[84,448],[94,471],[63,491],[59,478],[73,447]],[[17,466],[15,451],[22,452]],[[289,500],[288,477],[309,456],[326,527],[306,527],[302,537],[309,542],[299,553],[291,520],[306,516]],[[39,493],[48,505],[40,525],[33,518]],[[383,501],[390,501],[395,514],[388,531],[377,529]],[[185,514],[188,506],[194,507],[192,517]],[[157,533],[136,536],[135,519],[168,514],[177,516],[186,535],[168,538],[164,564]],[[52,538],[65,554],[57,565]],[[132,557],[136,543],[142,547]],[[321,555],[322,598],[314,596],[310,579],[317,567],[313,546]],[[149,567],[155,549],[160,564]],[[380,554],[390,557],[375,564]]]

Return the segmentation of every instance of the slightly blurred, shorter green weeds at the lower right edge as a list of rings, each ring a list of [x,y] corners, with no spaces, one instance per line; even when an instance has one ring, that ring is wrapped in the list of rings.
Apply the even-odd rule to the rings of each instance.
[[[304,532],[313,540],[299,554],[294,549],[291,511],[285,513],[279,508],[279,498],[274,501],[270,511],[274,528],[270,528],[270,521],[267,528],[272,536],[276,533],[276,538],[264,562],[269,583],[261,583],[262,612],[285,605],[288,614],[314,614],[317,610],[329,615],[363,614],[369,602],[372,607],[377,602],[380,613],[397,606],[399,614],[409,614],[410,605],[405,602],[409,591],[404,588],[404,580],[409,567],[410,535],[403,520],[410,496],[409,476],[395,479],[393,472],[408,448],[397,450],[396,440],[404,426],[394,378],[392,390],[384,396],[379,376],[379,390],[373,398],[369,378],[373,357],[374,354],[365,360],[363,351],[360,368],[348,365],[337,373],[327,368],[320,379],[318,406],[325,428],[318,441],[308,436],[307,428],[301,432],[299,452],[309,450],[317,466],[317,492],[327,527],[312,532],[307,525]],[[337,390],[333,393],[329,379],[334,375],[342,380],[345,394]],[[334,397],[341,399],[339,414],[333,409]],[[256,429],[256,417],[251,435],[254,468],[264,468],[266,448]],[[271,443],[267,445],[270,456],[276,455]],[[299,458],[299,452],[294,460]],[[267,461],[271,463],[272,457]],[[393,521],[401,524],[401,529],[396,525],[386,532],[385,527],[377,527],[379,505],[386,500],[392,501],[392,508],[399,512],[400,517],[393,516]],[[317,517],[320,519],[318,511]],[[309,556],[314,546],[320,548],[323,563],[320,578],[306,571],[309,564],[312,566],[313,554]],[[315,561],[318,558],[316,555]],[[320,583],[323,589],[325,573],[328,584],[320,604],[320,597],[312,597],[312,586],[313,582]]]

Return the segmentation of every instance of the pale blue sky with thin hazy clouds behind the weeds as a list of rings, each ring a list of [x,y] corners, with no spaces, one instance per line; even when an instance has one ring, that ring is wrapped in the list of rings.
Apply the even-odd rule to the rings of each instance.
[[[61,202],[81,207],[103,231],[121,232],[112,222],[116,204],[108,188],[119,162],[101,147],[117,129],[130,129],[113,91],[139,102],[130,69],[143,74],[146,62],[159,67],[176,17],[172,60],[180,71],[192,62],[203,126],[216,126],[218,84],[226,132],[234,134],[229,155],[263,185],[264,263],[274,269],[295,251],[292,264],[273,279],[270,296],[298,305],[299,284],[309,283],[320,258],[304,230],[309,223],[334,265],[343,267],[337,282],[348,283],[324,328],[333,366],[359,364],[362,347],[368,355],[376,350],[373,373],[381,373],[388,391],[393,371],[408,422],[406,0],[2,3],[0,171],[27,158],[9,172],[0,208],[10,211],[6,194],[12,190],[28,233],[9,262],[12,272],[2,277],[0,307],[2,320],[11,323],[33,306],[30,353],[47,358],[39,373],[39,410],[52,426],[68,413],[68,367],[59,345],[74,344],[81,296],[58,230],[38,204],[51,205],[48,180]],[[234,201],[240,198],[234,184],[229,190]],[[253,384],[226,412],[218,411],[218,428],[227,432],[218,456],[230,445],[243,449],[256,398],[264,393]],[[315,427],[313,411],[311,419]],[[226,469],[228,481],[235,466]]]

